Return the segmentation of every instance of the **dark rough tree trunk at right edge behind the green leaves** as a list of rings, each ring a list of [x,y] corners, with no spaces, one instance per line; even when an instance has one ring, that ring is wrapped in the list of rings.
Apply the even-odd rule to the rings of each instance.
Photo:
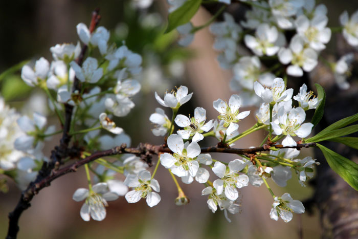
[[[351,79],[354,81],[351,81],[351,88],[346,91],[335,86],[333,75],[327,67],[319,66],[311,74],[313,81],[324,86],[327,96],[325,114],[315,129],[316,133],[358,112],[358,85],[354,68],[352,73]],[[357,150],[335,142],[325,142],[323,145],[358,163]],[[317,167],[313,200],[320,211],[322,238],[358,238],[358,191],[329,167],[318,148],[315,149],[315,157],[321,165]]]

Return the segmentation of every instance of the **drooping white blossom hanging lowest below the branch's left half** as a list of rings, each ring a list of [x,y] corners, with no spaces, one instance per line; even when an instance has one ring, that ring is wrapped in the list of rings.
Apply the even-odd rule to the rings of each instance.
[[[81,218],[84,221],[89,221],[90,216],[93,220],[102,221],[106,217],[107,201],[118,199],[118,195],[109,191],[106,183],[98,183],[93,185],[92,191],[86,188],[78,188],[72,198],[76,202],[86,200],[80,211]]]

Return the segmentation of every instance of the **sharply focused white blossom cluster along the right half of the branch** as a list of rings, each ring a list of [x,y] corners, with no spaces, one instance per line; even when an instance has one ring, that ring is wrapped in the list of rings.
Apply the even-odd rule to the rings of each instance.
[[[256,114],[258,122],[254,129],[261,127],[270,131],[272,127],[272,133],[277,136],[271,140],[278,143],[277,141],[283,138],[282,145],[289,147],[297,145],[293,137],[305,138],[311,133],[313,124],[304,123],[305,111],[316,108],[320,100],[312,92],[307,92],[305,84],[302,85],[299,93],[295,96],[293,96],[293,89],[286,89],[282,78],[273,79],[271,88],[266,88],[255,81],[253,89],[262,102]],[[155,98],[161,105],[172,109],[172,121],[161,108],[156,108],[149,120],[154,123],[152,131],[155,136],[168,135],[167,145],[171,153],[160,154],[161,165],[169,169],[174,176],[180,177],[185,184],[191,184],[194,179],[196,182],[204,184],[206,188],[202,194],[208,195],[208,206],[213,212],[219,207],[230,221],[228,212],[234,214],[241,210],[241,198],[238,189],[248,186],[249,183],[259,187],[264,180],[271,178],[279,186],[285,187],[287,180],[292,178],[292,169],[298,175],[298,181],[302,186],[305,186],[305,182],[314,176],[312,169],[315,164],[318,165],[319,163],[311,157],[297,159],[300,151],[295,148],[271,150],[270,154],[267,155],[258,153],[257,157],[263,157],[263,160],[268,161],[262,164],[258,164],[247,157],[225,163],[212,159],[210,154],[202,153],[199,143],[209,136],[217,138],[219,143],[230,144],[231,146],[241,136],[238,132],[239,121],[246,118],[250,111],[240,112],[241,98],[238,95],[232,95],[229,102],[221,99],[213,102],[213,107],[219,113],[217,120],[207,120],[206,110],[202,107],[195,108],[193,117],[177,115],[179,108],[191,96],[192,93],[188,94],[186,86],[180,86],[176,92],[166,93],[164,100],[155,93]],[[293,107],[292,98],[297,101],[297,107]],[[271,117],[270,108],[272,110]],[[176,134],[173,134],[175,131],[174,123],[179,127]],[[244,135],[247,132],[245,131],[242,134]],[[287,162],[292,167],[289,167]],[[209,180],[210,171],[217,177],[213,182]],[[149,197],[147,193],[151,192],[151,189],[159,191],[159,187],[155,186],[156,181],[154,181],[154,187],[151,186],[149,176],[148,174],[146,180],[139,181],[145,182],[144,185],[138,183],[138,178],[141,179],[138,175],[127,176],[126,181],[135,182],[131,186],[135,190],[128,197],[126,196],[128,202],[137,202],[141,197]],[[128,183],[127,185],[130,186]],[[299,209],[295,208],[294,204],[299,202],[297,200],[288,200],[288,198],[286,200],[286,196],[281,198],[275,196],[274,198],[275,203],[270,213],[272,219],[277,220],[277,215],[281,215],[281,218],[288,222],[292,219],[292,212],[302,213],[304,211],[303,206]],[[159,202],[159,200],[160,197],[156,197],[155,202]],[[188,200],[185,202],[187,203]],[[294,204],[290,204],[290,202],[294,202]],[[148,198],[147,203],[149,206],[152,205]],[[180,205],[186,203],[180,203]],[[300,205],[302,204],[300,203]]]

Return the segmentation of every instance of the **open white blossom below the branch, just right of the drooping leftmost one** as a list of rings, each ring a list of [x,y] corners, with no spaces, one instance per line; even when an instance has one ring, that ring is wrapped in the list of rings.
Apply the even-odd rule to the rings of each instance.
[[[150,177],[150,172],[147,170],[140,171],[138,175],[128,175],[124,184],[134,188],[125,194],[128,203],[137,203],[144,198],[148,206],[153,207],[161,201],[161,196],[156,193],[160,191],[159,183]]]

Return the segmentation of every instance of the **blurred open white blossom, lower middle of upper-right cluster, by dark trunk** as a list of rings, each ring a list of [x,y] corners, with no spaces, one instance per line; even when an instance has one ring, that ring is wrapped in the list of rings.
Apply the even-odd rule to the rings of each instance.
[[[305,48],[304,39],[300,35],[295,35],[289,44],[289,48],[281,48],[278,58],[283,64],[289,64],[286,72],[288,75],[301,77],[303,71],[310,72],[317,66],[318,55],[315,50]],[[301,69],[302,68],[302,69]]]

